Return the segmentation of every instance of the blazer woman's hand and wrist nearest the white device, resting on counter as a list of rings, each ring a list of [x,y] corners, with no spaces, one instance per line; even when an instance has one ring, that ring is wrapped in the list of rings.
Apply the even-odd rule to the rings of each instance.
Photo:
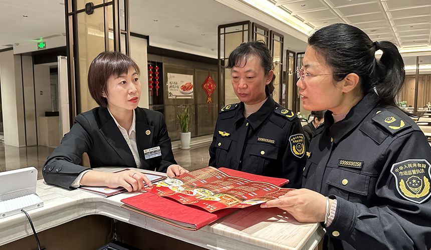
[[[144,182],[148,186],[152,186],[151,181],[144,173],[135,170],[115,173],[93,170],[86,172],[80,181],[81,185],[89,186],[108,186],[110,188],[122,186],[129,192],[141,190],[144,187]]]

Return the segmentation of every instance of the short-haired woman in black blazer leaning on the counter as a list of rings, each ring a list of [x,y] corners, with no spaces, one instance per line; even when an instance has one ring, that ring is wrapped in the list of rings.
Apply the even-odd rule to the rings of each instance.
[[[120,52],[102,52],[93,60],[88,87],[100,107],[78,114],[70,132],[48,156],[43,167],[48,184],[70,189],[79,185],[123,186],[128,191],[142,189],[143,182],[151,186],[139,171],[107,173],[79,165],[84,152],[91,167],[138,167],[167,172],[169,177],[187,172],[173,157],[162,113],[137,106],[141,93],[138,76],[138,65]]]

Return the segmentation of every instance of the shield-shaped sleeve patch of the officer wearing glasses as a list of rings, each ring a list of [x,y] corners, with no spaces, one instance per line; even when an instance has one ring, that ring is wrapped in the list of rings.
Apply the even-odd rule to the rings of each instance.
[[[430,167],[425,159],[408,159],[397,162],[390,169],[395,176],[398,193],[405,199],[422,203],[429,198]]]

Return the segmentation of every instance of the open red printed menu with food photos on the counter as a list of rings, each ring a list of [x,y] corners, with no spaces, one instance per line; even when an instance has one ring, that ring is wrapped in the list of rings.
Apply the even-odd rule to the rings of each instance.
[[[229,176],[210,166],[166,178],[144,189],[182,204],[202,207],[209,212],[248,207],[279,198],[293,190],[267,182]]]

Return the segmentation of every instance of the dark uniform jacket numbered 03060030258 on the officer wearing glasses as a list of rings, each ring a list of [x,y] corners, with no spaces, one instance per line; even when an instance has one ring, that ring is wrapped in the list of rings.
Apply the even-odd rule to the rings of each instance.
[[[431,147],[404,112],[368,93],[311,140],[303,187],[337,199],[329,249],[431,247]]]

